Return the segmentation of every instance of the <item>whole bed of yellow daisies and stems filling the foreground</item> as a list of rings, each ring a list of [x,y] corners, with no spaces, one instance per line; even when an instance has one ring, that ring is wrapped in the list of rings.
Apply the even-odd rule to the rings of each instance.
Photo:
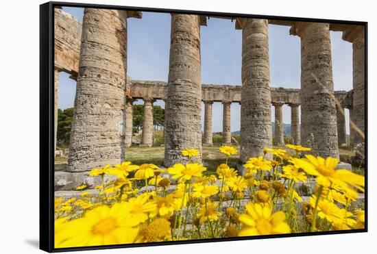
[[[167,169],[150,162],[93,168],[89,175],[102,180],[95,194],[82,184],[80,198],[55,199],[55,246],[363,229],[365,212],[355,201],[365,178],[337,169],[335,158],[302,157],[310,149],[287,147],[265,149],[272,160],[251,157],[243,175],[229,164],[238,151],[228,146],[212,175],[192,162],[196,149],[182,151],[189,163]],[[313,180],[315,194],[304,202],[295,187]]]

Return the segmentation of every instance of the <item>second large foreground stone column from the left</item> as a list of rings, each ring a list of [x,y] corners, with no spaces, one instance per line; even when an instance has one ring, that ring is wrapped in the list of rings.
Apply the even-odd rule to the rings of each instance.
[[[202,161],[200,17],[171,14],[165,166],[188,162],[183,149],[198,149]]]

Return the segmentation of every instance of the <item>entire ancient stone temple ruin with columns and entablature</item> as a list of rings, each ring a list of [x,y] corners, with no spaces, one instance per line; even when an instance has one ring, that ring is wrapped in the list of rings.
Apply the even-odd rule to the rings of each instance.
[[[69,73],[77,81],[68,168],[56,172],[58,179],[68,179],[71,184],[62,183],[60,190],[85,182],[91,168],[124,160],[125,147],[132,144],[132,103],[136,99],[143,99],[145,105],[145,146],[153,144],[153,103],[165,101],[165,166],[185,162],[180,153],[184,148],[201,151],[202,102],[206,145],[212,144],[212,103],[223,104],[223,144],[231,142],[230,105],[241,104],[243,162],[272,146],[271,105],[275,107],[278,145],[284,145],[282,105],[291,107],[293,142],[312,147],[315,154],[339,158],[339,146],[346,136],[344,108],[350,110],[351,144],[364,142],[363,26],[234,17],[236,29],[242,29],[242,84],[231,86],[202,84],[200,26],[206,25],[208,16],[195,14],[171,14],[167,81],[127,77],[127,18],[142,18],[142,13],[86,8],[80,23],[55,9],[55,137],[58,73]],[[300,36],[301,89],[270,87],[269,24],[289,26],[293,36]],[[350,91],[334,91],[330,31],[343,31],[343,40],[353,45]]]

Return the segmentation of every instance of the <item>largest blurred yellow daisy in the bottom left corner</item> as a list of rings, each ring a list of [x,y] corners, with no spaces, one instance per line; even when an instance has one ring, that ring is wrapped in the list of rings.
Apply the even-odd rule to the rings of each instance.
[[[56,248],[133,243],[138,228],[127,213],[127,204],[92,209],[83,218],[60,225],[56,232]]]

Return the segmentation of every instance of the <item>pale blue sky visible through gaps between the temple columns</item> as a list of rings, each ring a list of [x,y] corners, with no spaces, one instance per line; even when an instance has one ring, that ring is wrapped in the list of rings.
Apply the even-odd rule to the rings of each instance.
[[[63,8],[82,21],[82,8]],[[143,12],[143,18],[127,19],[127,75],[132,79],[167,81],[169,73],[170,14]],[[241,85],[241,30],[234,22],[210,18],[201,27],[202,84]],[[335,90],[352,89],[352,45],[331,32],[332,69]],[[300,88],[300,38],[289,35],[289,27],[269,25],[271,87]],[[75,81],[66,73],[59,77],[58,107],[73,107]],[[142,101],[136,101],[142,103]],[[164,107],[163,101],[156,105]],[[274,120],[274,109],[272,119]],[[204,116],[204,105],[202,106]],[[231,105],[231,130],[241,124],[241,107]],[[202,119],[203,121],[204,119]],[[291,110],[283,106],[284,123],[291,122]],[[348,129],[348,110],[346,110]],[[213,131],[222,129],[222,105],[213,104]]]

